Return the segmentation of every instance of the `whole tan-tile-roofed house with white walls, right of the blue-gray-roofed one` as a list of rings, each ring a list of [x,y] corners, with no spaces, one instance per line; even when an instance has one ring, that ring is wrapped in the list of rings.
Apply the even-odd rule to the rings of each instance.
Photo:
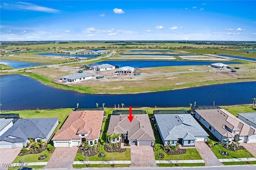
[[[256,143],[256,129],[225,109],[195,110],[195,117],[221,142]],[[229,142],[226,142],[229,140]]]

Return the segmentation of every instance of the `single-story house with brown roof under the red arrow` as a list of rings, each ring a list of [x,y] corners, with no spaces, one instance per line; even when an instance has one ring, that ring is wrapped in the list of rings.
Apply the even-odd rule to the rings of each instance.
[[[124,139],[129,141],[130,145],[149,145],[153,146],[155,137],[150,124],[148,114],[134,115],[132,122],[128,115],[111,115],[108,134],[121,134]],[[120,142],[121,137],[113,138],[111,143]]]

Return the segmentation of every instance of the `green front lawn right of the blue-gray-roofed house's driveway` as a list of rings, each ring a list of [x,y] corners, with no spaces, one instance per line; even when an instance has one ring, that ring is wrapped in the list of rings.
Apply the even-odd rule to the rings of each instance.
[[[220,144],[215,145],[211,148],[212,152],[216,155],[218,159],[225,159],[225,158],[246,158],[246,153],[248,152],[246,149],[240,149],[235,151],[227,150],[226,148],[222,147]],[[228,152],[229,156],[223,156],[219,153],[219,151],[223,150],[224,152]],[[254,156],[248,152],[249,158],[253,158]]]

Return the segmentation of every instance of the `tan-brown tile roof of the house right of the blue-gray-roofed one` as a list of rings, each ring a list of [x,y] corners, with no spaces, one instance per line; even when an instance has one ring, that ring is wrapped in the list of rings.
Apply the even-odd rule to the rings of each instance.
[[[234,133],[230,133],[225,129],[228,127],[233,131],[239,131],[240,136],[251,136],[256,134],[256,129],[244,121],[238,119],[225,109],[204,109],[196,110],[196,112],[204,118],[214,129],[225,137],[234,137]]]

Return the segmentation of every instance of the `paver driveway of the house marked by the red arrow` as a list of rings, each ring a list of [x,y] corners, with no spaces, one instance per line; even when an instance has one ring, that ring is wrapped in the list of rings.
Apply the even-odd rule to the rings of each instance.
[[[130,167],[157,167],[154,151],[151,146],[131,145]]]

